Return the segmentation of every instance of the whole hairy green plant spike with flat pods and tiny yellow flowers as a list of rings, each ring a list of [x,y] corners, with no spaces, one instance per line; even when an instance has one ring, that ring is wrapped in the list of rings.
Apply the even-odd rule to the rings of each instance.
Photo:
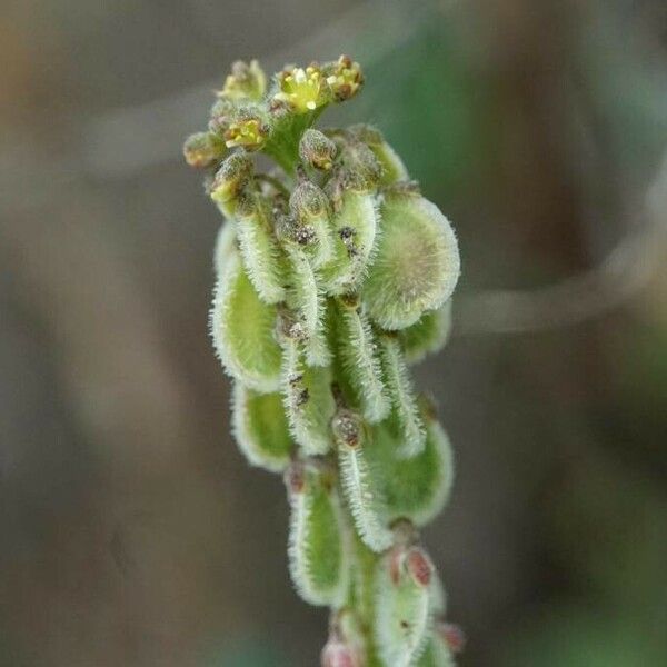
[[[377,129],[315,128],[362,82],[345,56],[270,82],[237,62],[183,152],[226,219],[210,326],[233,432],[283,475],[291,579],[331,610],[322,665],[450,666],[461,636],[418,530],[452,455],[409,365],[447,340],[459,253]]]

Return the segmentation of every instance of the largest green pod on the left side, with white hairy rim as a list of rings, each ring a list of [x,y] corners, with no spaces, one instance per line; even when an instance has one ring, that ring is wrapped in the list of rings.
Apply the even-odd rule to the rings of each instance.
[[[276,391],[281,370],[273,336],[276,307],[259,298],[237,253],[218,277],[210,321],[213,346],[226,370],[256,391]]]

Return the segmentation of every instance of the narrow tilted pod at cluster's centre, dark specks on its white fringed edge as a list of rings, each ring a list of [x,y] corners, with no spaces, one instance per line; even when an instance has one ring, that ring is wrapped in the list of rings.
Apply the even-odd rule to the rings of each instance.
[[[282,340],[282,397],[293,439],[308,456],[327,454],[331,447],[329,422],[336,410],[329,368],[303,362],[302,327],[291,325]]]

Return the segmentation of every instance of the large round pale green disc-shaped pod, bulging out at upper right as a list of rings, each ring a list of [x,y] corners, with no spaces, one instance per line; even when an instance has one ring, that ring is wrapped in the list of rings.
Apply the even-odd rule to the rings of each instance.
[[[362,297],[380,327],[404,329],[451,296],[458,246],[447,218],[418,195],[387,193],[380,216],[382,235]]]

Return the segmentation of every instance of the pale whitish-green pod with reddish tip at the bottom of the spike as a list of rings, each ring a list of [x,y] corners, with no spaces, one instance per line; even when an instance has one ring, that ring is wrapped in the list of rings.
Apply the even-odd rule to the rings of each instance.
[[[431,620],[432,569],[428,556],[417,547],[397,547],[378,563],[374,637],[385,665],[407,667],[424,653]]]

